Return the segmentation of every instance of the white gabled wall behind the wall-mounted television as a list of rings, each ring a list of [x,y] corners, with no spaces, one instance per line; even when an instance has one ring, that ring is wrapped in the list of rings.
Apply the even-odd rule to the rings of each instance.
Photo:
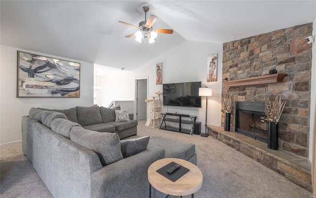
[[[218,54],[217,82],[206,82],[207,55]],[[221,125],[221,94],[222,94],[222,43],[206,43],[197,41],[184,41],[178,46],[166,51],[163,55],[152,60],[135,71],[135,77],[149,79],[148,96],[155,96],[162,91],[162,85],[156,85],[156,63],[162,63],[162,83],[201,81],[202,87],[212,88],[212,97],[208,101],[208,125]],[[202,108],[190,107],[162,107],[162,112],[197,115],[197,121],[205,125],[206,99],[202,97]],[[202,127],[202,132],[205,128]]]

